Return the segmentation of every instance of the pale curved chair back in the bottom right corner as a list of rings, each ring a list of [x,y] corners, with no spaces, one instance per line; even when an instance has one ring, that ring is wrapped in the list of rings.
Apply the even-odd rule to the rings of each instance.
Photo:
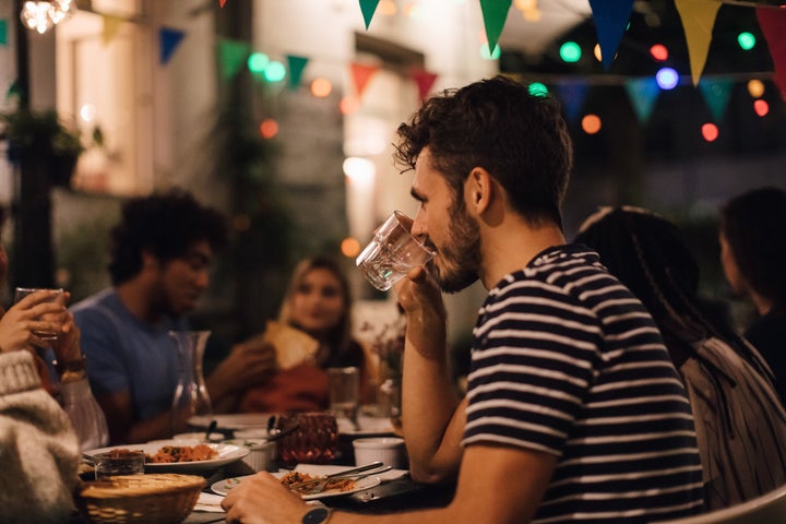
[[[761,497],[723,510],[658,524],[779,524],[786,523],[786,485]]]

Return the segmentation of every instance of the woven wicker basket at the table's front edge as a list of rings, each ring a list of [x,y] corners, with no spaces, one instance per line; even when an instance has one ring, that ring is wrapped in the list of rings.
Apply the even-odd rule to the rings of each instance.
[[[85,483],[84,513],[94,524],[176,524],[188,517],[205,480],[194,475],[148,474]]]

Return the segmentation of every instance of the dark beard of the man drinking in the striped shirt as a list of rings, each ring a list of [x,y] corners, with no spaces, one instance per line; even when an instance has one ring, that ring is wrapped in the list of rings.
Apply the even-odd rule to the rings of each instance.
[[[469,218],[462,203],[451,206],[449,243],[440,249],[442,267],[437,282],[445,293],[457,293],[478,278],[480,269],[480,228]]]

